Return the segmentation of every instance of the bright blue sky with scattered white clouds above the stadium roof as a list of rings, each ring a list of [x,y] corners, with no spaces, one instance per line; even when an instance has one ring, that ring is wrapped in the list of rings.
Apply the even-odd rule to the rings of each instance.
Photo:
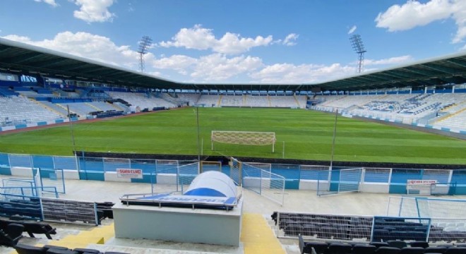
[[[195,83],[316,83],[466,51],[466,0],[2,0],[0,37]]]

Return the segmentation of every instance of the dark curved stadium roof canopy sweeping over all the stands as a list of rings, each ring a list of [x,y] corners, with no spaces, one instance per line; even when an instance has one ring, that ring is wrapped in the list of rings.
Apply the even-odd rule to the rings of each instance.
[[[119,66],[0,38],[0,72],[95,83],[186,90],[371,90],[466,83],[466,52],[309,84],[179,83]]]

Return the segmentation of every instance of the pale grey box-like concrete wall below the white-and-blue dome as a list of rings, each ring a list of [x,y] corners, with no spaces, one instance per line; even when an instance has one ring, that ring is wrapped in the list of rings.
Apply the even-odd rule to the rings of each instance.
[[[230,211],[117,204],[113,214],[117,238],[239,246],[242,200]]]

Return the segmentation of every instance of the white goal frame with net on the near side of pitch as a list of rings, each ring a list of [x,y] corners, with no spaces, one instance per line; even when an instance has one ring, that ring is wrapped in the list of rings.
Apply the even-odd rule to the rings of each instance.
[[[214,143],[227,143],[236,145],[272,145],[272,152],[275,152],[275,133],[260,131],[212,131],[210,142],[212,150]]]

